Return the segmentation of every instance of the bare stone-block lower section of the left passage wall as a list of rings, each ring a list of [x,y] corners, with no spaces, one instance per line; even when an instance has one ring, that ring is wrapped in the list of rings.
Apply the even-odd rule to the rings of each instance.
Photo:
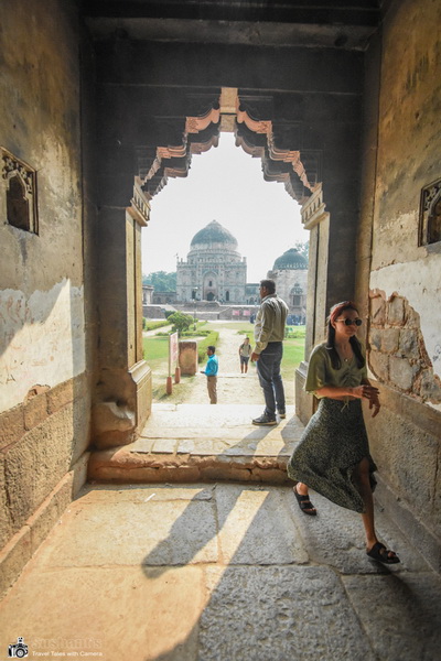
[[[85,375],[35,387],[0,414],[0,592],[85,483],[89,414]]]

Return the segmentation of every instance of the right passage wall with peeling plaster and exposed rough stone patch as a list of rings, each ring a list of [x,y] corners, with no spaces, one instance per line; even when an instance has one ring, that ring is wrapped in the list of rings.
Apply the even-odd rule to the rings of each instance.
[[[383,409],[368,420],[383,497],[441,566],[441,245],[418,245],[421,188],[441,176],[441,4],[395,2],[367,54],[357,292]],[[376,77],[379,74],[379,79]],[[378,122],[376,119],[378,118]],[[369,292],[369,299],[367,293]],[[417,497],[418,494],[418,497]]]

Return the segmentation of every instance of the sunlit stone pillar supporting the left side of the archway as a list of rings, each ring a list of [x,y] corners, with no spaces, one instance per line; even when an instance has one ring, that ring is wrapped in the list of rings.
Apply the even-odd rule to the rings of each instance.
[[[151,370],[142,357],[141,227],[149,205],[131,169],[115,172],[99,209],[99,346],[94,442],[130,443],[151,411]],[[103,191],[103,187],[101,187]]]

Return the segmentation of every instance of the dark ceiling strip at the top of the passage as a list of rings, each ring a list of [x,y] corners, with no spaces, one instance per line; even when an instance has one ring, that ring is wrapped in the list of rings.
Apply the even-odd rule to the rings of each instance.
[[[80,0],[96,39],[364,50],[390,0]]]

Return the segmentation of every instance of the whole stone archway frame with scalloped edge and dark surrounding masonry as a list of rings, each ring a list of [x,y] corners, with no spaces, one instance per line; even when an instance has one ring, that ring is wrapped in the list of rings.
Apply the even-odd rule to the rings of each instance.
[[[131,43],[133,56],[138,45]],[[166,185],[168,177],[185,177],[192,156],[216,145],[219,131],[233,130],[236,144],[250,156],[261,159],[263,180],[283,183],[287,192],[302,204],[305,227],[312,230],[306,350],[322,337],[325,312],[330,302],[352,295],[355,288],[353,252],[356,238],[353,206],[359,194],[359,180],[353,159],[342,156],[335,159],[335,154],[338,150],[340,154],[343,154],[345,149],[353,152],[352,145],[357,134],[359,113],[351,94],[354,86],[355,88],[358,86],[359,67],[354,66],[352,62],[349,68],[332,69],[331,61],[321,61],[324,69],[321,71],[320,80],[315,86],[321,89],[320,94],[302,93],[299,96],[298,91],[289,91],[292,98],[288,98],[287,91],[273,89],[273,79],[267,75],[261,78],[259,88],[252,85],[244,89],[237,86],[213,88],[207,85],[207,80],[213,79],[213,72],[206,67],[206,62],[201,59],[185,73],[187,86],[184,86],[184,79],[174,82],[166,88],[166,95],[157,94],[151,98],[150,105],[146,105],[142,100],[146,85],[146,79],[142,78],[142,66],[139,71],[137,68],[131,71],[132,83],[137,82],[138,75],[140,76],[139,85],[129,87],[119,85],[114,80],[115,74],[111,74],[112,71],[120,71],[118,48],[108,52],[105,47],[100,56],[103,57],[105,53],[109,61],[106,59],[106,66],[100,68],[104,76],[100,83],[101,107],[112,108],[112,120],[99,122],[104,162],[99,180],[99,214],[103,216],[100,223],[103,241],[99,245],[100,250],[105,251],[103,259],[105,268],[100,272],[99,306],[101,318],[111,319],[112,326],[111,329],[105,328],[101,334],[101,366],[97,400],[105,397],[115,402],[128,402],[127,394],[122,393],[121,397],[119,392],[121,368],[116,367],[123,357],[122,369],[129,375],[129,382],[132,383],[129,404],[135,405],[139,429],[150,410],[151,395],[148,394],[147,398],[139,395],[141,388],[144,392],[149,392],[149,368],[143,362],[142,355],[133,354],[133,346],[137,346],[133,338],[139,333],[138,327],[140,328],[137,314],[129,313],[129,316],[135,316],[135,321],[131,319],[128,325],[126,312],[129,300],[135,311],[138,308],[138,299],[141,301],[140,277],[139,284],[138,279],[135,278],[132,293],[130,286],[127,288],[127,283],[133,282],[133,269],[140,268],[138,229],[140,230],[141,225],[149,221],[150,201]],[[170,51],[170,54],[172,53],[173,50]],[[228,51],[227,58],[234,57],[234,50]],[[306,53],[305,56],[309,55],[310,53]],[[164,51],[163,56],[166,59],[169,52]],[[313,54],[312,59],[314,58],[316,59],[316,54]],[[283,66],[286,64],[283,62]],[[225,61],[224,65],[224,71],[235,71],[233,63],[228,64]],[[337,71],[338,96],[335,98],[330,89],[331,78],[326,77],[326,71],[330,75],[331,69],[333,75]],[[204,80],[202,88],[192,87],[197,79],[197,72],[201,75],[198,82]],[[252,73],[254,69],[248,67],[241,77],[252,80]],[[118,75],[116,78],[118,79]],[[301,77],[298,78],[300,87],[304,85],[302,80]],[[279,83],[283,87],[283,77]],[[166,86],[166,83],[164,85]],[[345,88],[348,91],[347,96],[341,94]],[[289,80],[288,89],[292,90],[292,79]],[[315,117],[319,97],[325,107],[324,110],[321,109],[320,117],[326,111],[329,119],[325,138],[323,122]],[[338,107],[344,109],[343,113],[336,112]],[[344,120],[341,119],[341,115]],[[305,127],[306,117],[309,117],[308,131],[302,129]],[[349,123],[347,123],[348,117]],[[338,130],[335,126],[334,129],[332,128],[333,122]],[[343,127],[345,143],[342,142]],[[120,137],[116,139],[118,136]],[[329,185],[326,181],[321,184],[325,163]],[[324,196],[326,212],[324,212]],[[128,206],[130,199],[131,204]],[[316,208],[318,204],[320,212]],[[127,213],[133,220],[132,228],[129,229],[132,235],[129,243],[125,221]],[[111,227],[115,231],[109,235]],[[109,243],[109,236],[112,241],[116,240],[115,243]],[[333,249],[333,243],[338,245],[337,251]],[[125,252],[122,259],[121,250]],[[127,250],[132,250],[131,254],[128,254]],[[119,279],[116,283],[115,264],[119,262],[126,270],[126,280]],[[344,278],[340,277],[342,271]],[[114,285],[111,296],[110,283]],[[115,297],[116,290],[120,291],[119,304]],[[119,335],[116,339],[117,333]],[[133,378],[130,376],[135,365],[138,370],[144,366],[141,370],[144,378],[143,386],[133,383]],[[148,401],[147,405],[143,403],[146,401]],[[301,408],[302,402],[299,402],[299,411]],[[308,412],[304,418],[308,418]]]

